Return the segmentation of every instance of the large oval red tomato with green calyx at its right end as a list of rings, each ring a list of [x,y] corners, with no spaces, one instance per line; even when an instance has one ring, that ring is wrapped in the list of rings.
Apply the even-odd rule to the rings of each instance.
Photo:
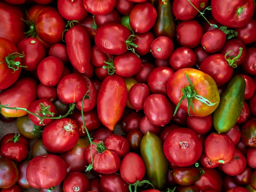
[[[133,46],[130,30],[119,23],[101,25],[95,33],[95,45],[103,52],[112,55],[121,55],[127,47]],[[135,46],[136,47],[136,46]],[[132,49],[130,47],[129,49]]]

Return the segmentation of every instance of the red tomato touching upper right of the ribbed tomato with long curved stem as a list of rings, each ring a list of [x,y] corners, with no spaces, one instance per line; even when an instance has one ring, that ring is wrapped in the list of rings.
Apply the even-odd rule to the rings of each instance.
[[[115,152],[120,159],[123,159],[128,152],[130,152],[130,146],[127,139],[124,136],[111,134],[104,140],[104,145],[108,150]]]

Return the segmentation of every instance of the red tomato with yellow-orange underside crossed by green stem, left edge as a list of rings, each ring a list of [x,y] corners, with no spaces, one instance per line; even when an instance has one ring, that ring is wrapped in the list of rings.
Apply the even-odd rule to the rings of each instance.
[[[21,117],[26,115],[27,112],[25,110],[7,109],[2,107],[2,105],[8,105],[11,108],[21,107],[28,109],[31,103],[36,100],[36,87],[37,82],[32,77],[27,76],[18,79],[11,87],[1,92],[1,113],[7,117]]]

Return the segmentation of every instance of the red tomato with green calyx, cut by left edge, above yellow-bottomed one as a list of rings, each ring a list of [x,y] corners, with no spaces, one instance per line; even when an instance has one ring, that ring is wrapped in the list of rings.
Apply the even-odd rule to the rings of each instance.
[[[21,57],[24,55],[18,53],[17,47],[10,40],[0,37],[0,90],[7,89],[20,76]]]

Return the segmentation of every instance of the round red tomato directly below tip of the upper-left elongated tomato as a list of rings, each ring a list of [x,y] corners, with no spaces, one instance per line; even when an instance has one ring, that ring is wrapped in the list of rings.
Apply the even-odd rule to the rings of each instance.
[[[75,103],[83,98],[87,90],[85,79],[80,74],[68,74],[57,85],[58,99],[63,103]]]

